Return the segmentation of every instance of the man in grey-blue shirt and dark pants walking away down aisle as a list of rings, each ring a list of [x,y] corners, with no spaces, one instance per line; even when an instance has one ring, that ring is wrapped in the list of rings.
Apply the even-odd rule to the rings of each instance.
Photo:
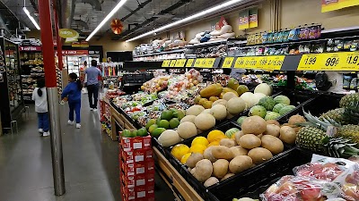
[[[89,95],[90,110],[97,111],[97,99],[99,97],[99,77],[101,78],[101,71],[97,68],[97,61],[91,61],[91,67],[87,68],[84,73],[87,75],[87,91]],[[93,96],[93,102],[92,102]]]

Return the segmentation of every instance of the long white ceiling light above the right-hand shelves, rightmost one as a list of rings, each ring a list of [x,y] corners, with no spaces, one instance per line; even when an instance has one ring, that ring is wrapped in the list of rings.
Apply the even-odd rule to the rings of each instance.
[[[209,9],[203,11],[203,12],[190,15],[187,18],[184,18],[184,19],[182,19],[180,21],[175,21],[175,22],[172,22],[170,24],[164,25],[164,26],[162,26],[162,27],[160,27],[158,29],[154,29],[152,31],[146,32],[146,33],[144,33],[144,34],[142,34],[140,36],[137,36],[135,38],[127,39],[126,42],[131,42],[131,41],[134,41],[134,40],[139,39],[139,38],[144,38],[144,37],[151,36],[153,33],[161,32],[164,29],[170,29],[170,28],[172,28],[174,26],[177,26],[177,25],[180,25],[182,23],[191,21],[193,19],[198,19],[199,17],[203,17],[203,16],[205,16],[206,14],[209,14],[209,13],[218,12],[219,10],[221,10],[223,8],[229,7],[229,6],[233,5],[233,4],[237,4],[237,3],[241,2],[241,1],[242,0],[231,0],[231,1],[225,2],[223,4],[216,5],[215,7],[209,8]]]

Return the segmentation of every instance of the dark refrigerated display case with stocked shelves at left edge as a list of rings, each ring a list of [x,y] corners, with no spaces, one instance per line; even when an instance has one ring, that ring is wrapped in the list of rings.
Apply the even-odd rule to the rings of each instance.
[[[3,129],[11,129],[23,110],[19,46],[0,38],[0,111]]]

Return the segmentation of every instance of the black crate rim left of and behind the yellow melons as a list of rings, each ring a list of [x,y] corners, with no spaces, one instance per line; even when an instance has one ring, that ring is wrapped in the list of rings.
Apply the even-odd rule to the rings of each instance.
[[[233,122],[226,122],[226,123],[223,123],[223,125],[217,126],[212,130],[221,130],[221,131],[225,132],[232,128],[239,129],[239,127],[237,125],[235,125]],[[212,130],[208,130],[208,131],[203,132],[195,137],[185,139],[185,140],[181,141],[179,144],[184,144],[184,145],[187,145],[188,147],[190,147],[192,140],[194,138],[196,138],[198,136],[207,137],[208,133]],[[188,181],[189,185],[192,186],[197,191],[199,196],[203,197],[205,200],[211,200],[209,195],[206,193],[206,191],[207,191],[206,187],[201,182],[199,182],[195,177],[193,177],[190,172],[188,172],[188,167],[185,164],[180,163],[180,161],[177,158],[175,158],[175,157],[173,157],[173,155],[171,155],[172,147],[167,147],[164,149],[166,152],[166,154],[165,154],[166,158],[170,161],[172,166],[180,173],[180,175],[182,175],[183,178]]]

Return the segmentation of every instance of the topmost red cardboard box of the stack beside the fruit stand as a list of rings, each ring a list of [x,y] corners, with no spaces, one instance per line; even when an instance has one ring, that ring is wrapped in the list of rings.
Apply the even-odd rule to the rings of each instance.
[[[121,136],[121,132],[119,132],[119,135]],[[151,149],[152,143],[151,143],[151,136],[146,137],[136,137],[136,138],[119,138],[119,144],[120,147],[124,151],[131,151],[135,149]]]

